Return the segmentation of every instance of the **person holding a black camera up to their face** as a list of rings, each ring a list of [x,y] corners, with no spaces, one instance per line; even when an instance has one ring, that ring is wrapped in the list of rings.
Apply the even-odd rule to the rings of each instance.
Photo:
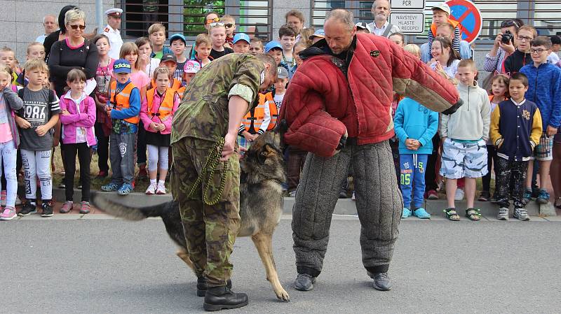
[[[496,35],[493,48],[485,56],[483,69],[487,72],[504,73],[504,59],[518,47],[518,29],[524,25],[519,19],[506,20],[501,23],[501,31]]]

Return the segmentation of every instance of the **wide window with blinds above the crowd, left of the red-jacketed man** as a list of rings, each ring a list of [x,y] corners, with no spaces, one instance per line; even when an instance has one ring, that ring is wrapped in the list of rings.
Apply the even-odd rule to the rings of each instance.
[[[272,1],[238,0],[126,0],[123,13],[123,37],[147,36],[148,27],[156,22],[165,25],[168,37],[182,33],[193,39],[205,32],[205,15],[216,12],[236,18],[236,32],[269,39],[272,29]]]

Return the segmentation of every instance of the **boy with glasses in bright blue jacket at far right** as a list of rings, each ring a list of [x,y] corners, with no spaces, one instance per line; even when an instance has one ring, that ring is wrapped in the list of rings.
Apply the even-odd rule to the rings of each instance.
[[[520,73],[527,76],[529,85],[526,99],[536,103],[541,113],[543,133],[539,144],[534,148],[534,157],[539,162],[540,191],[537,198],[539,204],[547,204],[549,193],[546,190],[549,168],[553,159],[553,136],[561,124],[561,69],[548,64],[551,52],[551,40],[546,36],[538,36],[530,42],[530,54],[534,64],[527,64]],[[532,197],[532,173],[534,164],[529,162],[524,198]]]

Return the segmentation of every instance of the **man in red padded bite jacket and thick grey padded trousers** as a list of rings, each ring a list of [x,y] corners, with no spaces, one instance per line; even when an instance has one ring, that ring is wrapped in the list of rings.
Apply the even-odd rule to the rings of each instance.
[[[374,288],[390,290],[388,266],[403,208],[388,138],[392,92],[451,114],[454,85],[382,36],[356,34],[353,15],[327,13],[325,39],[300,52],[280,119],[284,141],[311,152],[292,210],[297,290],[313,289],[327,250],[341,182],[353,167],[363,265]],[[288,129],[287,129],[288,128]]]

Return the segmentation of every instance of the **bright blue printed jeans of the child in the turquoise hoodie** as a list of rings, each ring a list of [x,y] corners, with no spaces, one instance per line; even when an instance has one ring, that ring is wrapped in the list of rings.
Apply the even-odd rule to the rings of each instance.
[[[428,154],[400,154],[399,160],[403,207],[412,210],[422,207]],[[411,208],[411,192],[413,192],[413,208]]]

